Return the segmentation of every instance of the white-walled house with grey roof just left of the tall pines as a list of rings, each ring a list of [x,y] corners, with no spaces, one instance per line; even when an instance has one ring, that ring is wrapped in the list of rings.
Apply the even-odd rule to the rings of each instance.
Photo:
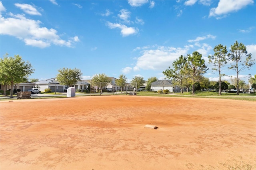
[[[169,90],[170,93],[180,92],[180,87],[172,84],[171,80],[158,80],[150,84],[151,91]]]

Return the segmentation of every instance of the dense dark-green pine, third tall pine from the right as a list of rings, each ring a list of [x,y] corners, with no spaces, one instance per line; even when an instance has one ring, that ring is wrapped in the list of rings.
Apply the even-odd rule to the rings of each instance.
[[[186,64],[186,70],[188,74],[192,78],[192,94],[195,94],[194,85],[197,81],[200,81],[201,75],[206,73],[207,66],[204,63],[204,59],[202,59],[202,54],[198,51],[194,51],[192,56],[188,54],[188,62]]]

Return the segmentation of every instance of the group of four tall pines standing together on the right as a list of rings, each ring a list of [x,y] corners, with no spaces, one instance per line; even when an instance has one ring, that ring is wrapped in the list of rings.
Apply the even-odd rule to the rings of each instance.
[[[251,69],[254,65],[254,59],[252,54],[247,53],[246,46],[243,43],[237,41],[231,45],[230,51],[228,52],[227,47],[219,44],[214,47],[214,55],[209,55],[209,63],[212,64],[213,70],[218,72],[219,75],[219,94],[221,95],[221,77],[225,74],[222,73],[222,68],[226,66],[228,61],[232,61],[228,69],[232,69],[236,72],[236,89],[239,89],[239,78],[238,75],[245,69]],[[179,85],[181,89],[192,85],[192,94],[195,92],[195,85],[198,84],[204,78],[203,75],[208,70],[205,65],[205,61],[202,58],[202,54],[198,51],[194,51],[192,55],[187,56],[181,55],[173,61],[172,68],[168,67],[163,71],[164,75],[168,79]],[[183,90],[181,91],[183,93]],[[239,91],[236,92],[239,95]]]

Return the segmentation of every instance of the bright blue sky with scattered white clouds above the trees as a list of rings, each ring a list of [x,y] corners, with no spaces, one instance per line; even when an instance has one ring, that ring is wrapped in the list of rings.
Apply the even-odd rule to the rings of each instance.
[[[80,69],[83,79],[105,73],[164,79],[162,71],[180,55],[199,51],[208,64],[213,48],[243,43],[256,58],[253,0],[2,0],[0,56],[20,55],[35,72],[56,77],[63,67]],[[227,67],[230,63],[227,65]],[[236,77],[236,72],[222,73]],[[256,65],[240,73],[246,82]]]

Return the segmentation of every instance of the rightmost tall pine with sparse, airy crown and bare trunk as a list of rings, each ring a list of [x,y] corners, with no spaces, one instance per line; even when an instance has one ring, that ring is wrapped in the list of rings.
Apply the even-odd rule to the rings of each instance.
[[[244,58],[244,56],[246,58]],[[238,75],[244,69],[251,69],[254,65],[254,59],[252,59],[252,54],[247,54],[246,46],[243,43],[238,43],[237,41],[234,45],[231,45],[230,53],[228,53],[228,57],[234,63],[231,63],[231,67],[229,69],[233,69],[236,71],[236,89],[239,89],[239,78]],[[239,91],[236,91],[236,95],[239,95]]]

